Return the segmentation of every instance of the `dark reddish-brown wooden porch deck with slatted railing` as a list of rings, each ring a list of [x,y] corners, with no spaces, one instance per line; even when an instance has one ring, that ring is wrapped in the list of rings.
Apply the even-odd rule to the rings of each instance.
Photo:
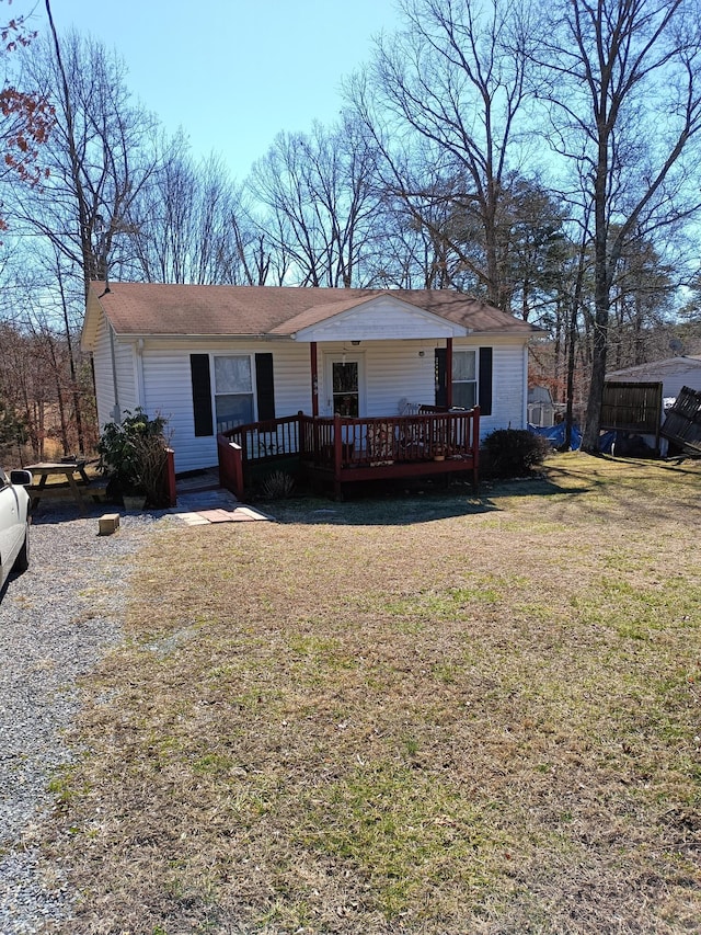
[[[468,474],[478,483],[480,411],[420,407],[416,414],[353,419],[298,412],[217,435],[221,486],[238,498],[254,467],[294,458],[301,474],[333,489],[358,481]]]

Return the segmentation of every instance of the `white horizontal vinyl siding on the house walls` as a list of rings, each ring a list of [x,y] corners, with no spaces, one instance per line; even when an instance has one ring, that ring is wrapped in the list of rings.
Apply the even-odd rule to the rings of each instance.
[[[307,343],[275,341],[211,341],[207,339],[145,339],[140,366],[143,374],[142,396],[137,399],[137,346],[118,346],[118,376],[122,386],[119,402],[123,410],[141,404],[150,414],[160,413],[168,419],[171,445],[175,451],[177,472],[211,467],[217,464],[216,436],[195,437],[192,395],[191,353],[239,355],[271,353],[275,381],[275,412],[277,417],[294,415],[298,411],[311,413],[311,364]],[[348,355],[361,354],[365,373],[365,415],[394,415],[402,401],[432,403],[435,400],[435,349],[445,346],[441,341],[361,341],[357,346],[346,342]],[[481,420],[482,436],[494,429],[525,427],[526,354],[520,338],[474,335],[453,340],[453,351],[462,347],[492,346],[493,404],[492,414]],[[325,411],[323,360],[326,353],[343,355],[343,342],[319,344],[319,402]],[[100,419],[107,418],[113,402],[108,340],[101,334],[95,347],[95,370],[99,376]],[[99,366],[100,361],[100,366]],[[214,363],[212,363],[214,373]],[[212,399],[214,403],[214,399]]]

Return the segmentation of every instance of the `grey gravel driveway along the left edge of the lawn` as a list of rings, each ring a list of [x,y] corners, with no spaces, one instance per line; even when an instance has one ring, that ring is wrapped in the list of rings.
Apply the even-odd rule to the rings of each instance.
[[[77,679],[120,638],[136,551],[179,522],[123,515],[115,535],[97,536],[97,515],[39,508],[30,570],[0,598],[0,935],[70,919],[73,896],[42,867],[36,840],[47,783],[70,761],[61,732],[80,705]]]

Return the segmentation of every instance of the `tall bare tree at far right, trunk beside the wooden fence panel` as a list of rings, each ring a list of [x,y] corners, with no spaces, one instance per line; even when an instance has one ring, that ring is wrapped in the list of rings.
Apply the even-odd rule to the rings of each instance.
[[[591,381],[583,447],[598,451],[612,289],[627,244],[699,207],[701,19],[687,0],[559,0],[540,30],[551,139],[591,214]],[[693,149],[692,149],[693,147]],[[583,204],[583,208],[588,207]]]

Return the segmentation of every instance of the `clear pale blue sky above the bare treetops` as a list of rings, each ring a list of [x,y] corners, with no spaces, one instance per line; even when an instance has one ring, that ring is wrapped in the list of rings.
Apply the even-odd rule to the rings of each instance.
[[[19,4],[18,4],[19,5]],[[53,0],[60,32],[114,48],[133,93],[242,180],[279,130],[332,123],[342,79],[398,24],[394,0]],[[44,4],[36,7],[45,28]]]

